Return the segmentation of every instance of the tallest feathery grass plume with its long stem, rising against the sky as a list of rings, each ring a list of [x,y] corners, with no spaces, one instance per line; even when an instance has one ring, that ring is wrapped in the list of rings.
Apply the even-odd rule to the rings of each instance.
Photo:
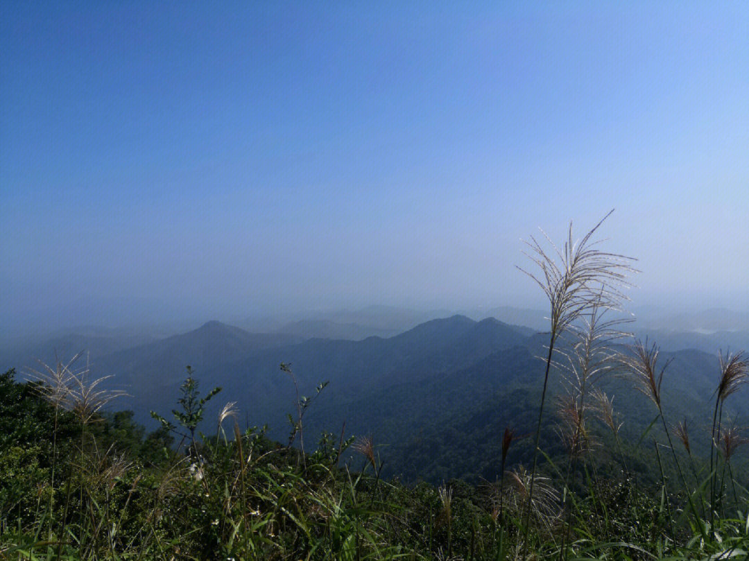
[[[611,210],[601,219],[582,240],[574,242],[572,238],[572,224],[570,222],[568,238],[559,249],[548,235],[542,231],[545,240],[551,245],[551,250],[544,247],[536,240],[530,238],[525,242],[528,252],[524,252],[541,273],[534,274],[522,267],[518,267],[523,273],[530,276],[546,295],[551,313],[550,333],[548,344],[548,356],[546,357],[546,368],[544,374],[544,386],[541,394],[541,405],[539,407],[539,421],[536,427],[536,444],[533,449],[533,468],[531,473],[536,474],[539,454],[539,435],[544,413],[546,390],[548,388],[549,370],[554,357],[554,345],[560,335],[580,318],[585,312],[589,312],[593,306],[601,309],[619,309],[622,300],[628,300],[623,294],[625,288],[629,288],[628,276],[636,270],[631,266],[634,259],[617,253],[604,252],[598,249],[601,240],[593,240],[598,228],[613,212]],[[533,476],[530,479],[528,491],[528,506],[526,512],[526,532],[529,526],[530,506],[533,501]],[[527,534],[525,536],[527,538]],[[527,539],[524,541],[527,544]]]

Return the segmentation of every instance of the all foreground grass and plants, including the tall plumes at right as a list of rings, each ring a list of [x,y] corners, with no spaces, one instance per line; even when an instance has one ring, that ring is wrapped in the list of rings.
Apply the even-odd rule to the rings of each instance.
[[[625,334],[606,314],[621,303],[631,267],[597,249],[592,234],[600,225],[580,243],[570,232],[554,258],[530,244],[542,271],[533,278],[551,303],[544,387],[555,372],[564,377],[556,430],[566,457],[539,449],[545,392],[530,469],[506,465],[518,439],[507,428],[496,482],[406,486],[380,476],[372,437],[342,431],[303,444],[310,399],[297,399],[286,446],[262,429],[241,429],[232,402],[216,433],[204,436],[197,431],[203,405],[219,389],[201,398],[188,372],[176,424],[155,415],[163,427],[144,439],[127,416],[102,416],[119,394],[98,389],[100,380],[75,370],[76,360],[42,365],[32,382],[0,374],[0,559],[749,559],[749,492],[739,479],[745,474],[733,469],[747,440],[723,418],[724,401],[747,380],[747,363],[742,354],[721,354],[711,457],[693,455],[686,423],[667,419],[667,363],[658,363],[658,347],[611,349]],[[288,365],[282,370],[296,382]],[[613,398],[598,387],[618,374],[655,406],[637,442],[622,438]],[[686,453],[677,452],[672,433]],[[175,436],[187,446],[175,446]],[[613,443],[612,461],[621,458],[613,470],[595,458],[604,443]],[[626,463],[625,451],[637,448],[661,474],[655,485],[638,481]]]

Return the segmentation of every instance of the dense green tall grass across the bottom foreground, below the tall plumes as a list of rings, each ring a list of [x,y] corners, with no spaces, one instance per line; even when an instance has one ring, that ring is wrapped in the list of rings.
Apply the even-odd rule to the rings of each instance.
[[[616,434],[613,412],[604,417]],[[298,461],[295,450],[270,442],[261,431],[243,431],[236,422],[232,438],[219,437],[231,419],[229,404],[216,419],[216,435],[196,443],[201,462],[187,450],[166,450],[162,460],[148,464],[118,450],[117,443],[103,445],[100,426],[106,421],[92,417],[87,446],[75,446],[61,459],[58,498],[39,502],[30,521],[19,518],[0,530],[0,557],[705,559],[749,551],[747,494],[731,468],[743,437],[731,423],[721,426],[724,469],[717,486],[729,489],[735,510],[732,514],[724,503],[703,537],[685,518],[690,511],[684,510],[683,494],[671,494],[667,485],[654,493],[628,479],[598,475],[583,449],[575,452],[583,467],[583,491],[565,485],[570,470],[564,467],[557,476],[511,467],[491,488],[455,481],[439,488],[405,487],[381,478],[382,463],[370,437],[352,442],[324,435],[306,461]],[[572,434],[583,431],[577,419],[568,428]],[[508,429],[503,461],[514,439]],[[553,472],[554,461],[547,458]]]

